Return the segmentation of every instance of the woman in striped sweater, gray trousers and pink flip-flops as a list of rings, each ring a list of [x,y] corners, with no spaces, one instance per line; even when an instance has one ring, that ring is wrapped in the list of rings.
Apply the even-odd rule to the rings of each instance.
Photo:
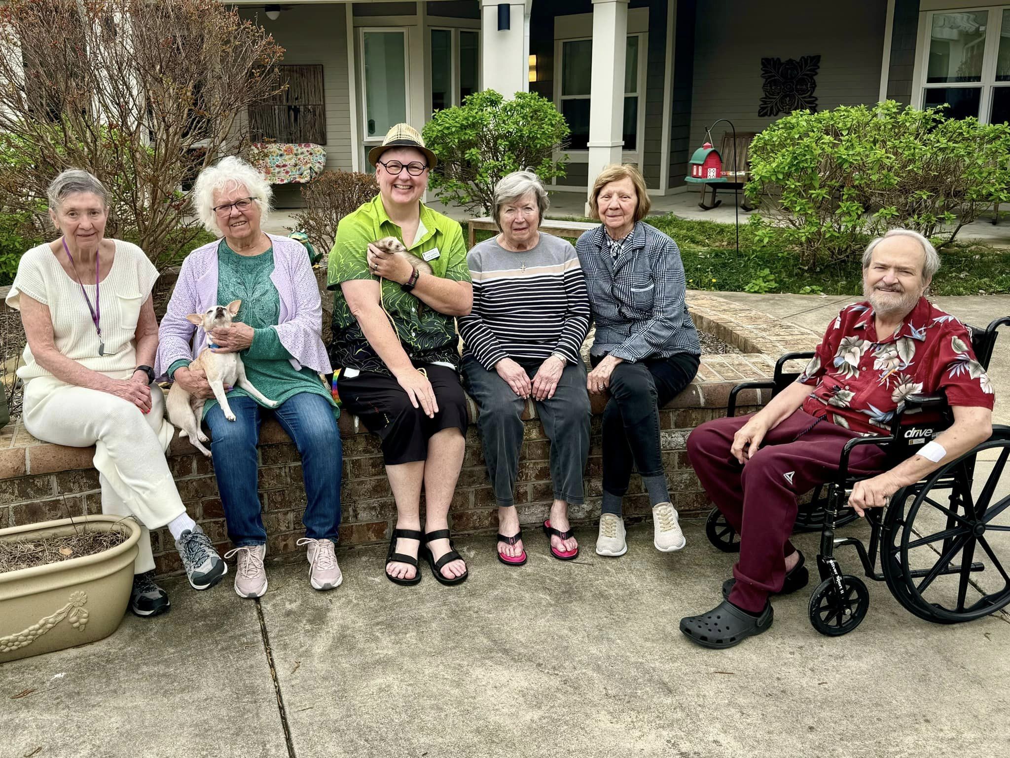
[[[527,400],[550,440],[553,504],[543,529],[558,559],[579,555],[568,506],[585,498],[590,408],[580,349],[589,331],[589,300],[575,249],[537,230],[546,209],[546,190],[532,172],[516,171],[498,183],[492,211],[501,233],[467,257],[474,309],[460,319],[463,371],[480,408],[498,501],[498,559],[511,566],[526,562],[513,491]]]

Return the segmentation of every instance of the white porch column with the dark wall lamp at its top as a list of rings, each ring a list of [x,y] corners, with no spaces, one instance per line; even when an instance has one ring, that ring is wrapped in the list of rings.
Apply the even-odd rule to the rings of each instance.
[[[529,11],[533,0],[480,0],[481,89],[506,98],[529,92]],[[498,6],[509,9],[509,27],[498,30]]]

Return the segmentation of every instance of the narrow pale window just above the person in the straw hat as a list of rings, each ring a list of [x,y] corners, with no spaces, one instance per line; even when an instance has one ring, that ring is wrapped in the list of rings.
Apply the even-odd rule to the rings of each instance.
[[[382,141],[407,120],[407,30],[362,29],[365,139]]]

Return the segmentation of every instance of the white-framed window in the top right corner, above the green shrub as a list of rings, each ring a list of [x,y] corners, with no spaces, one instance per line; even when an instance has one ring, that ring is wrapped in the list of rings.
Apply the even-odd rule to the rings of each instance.
[[[926,29],[922,107],[945,104],[954,118],[1010,121],[1010,6],[933,11]]]

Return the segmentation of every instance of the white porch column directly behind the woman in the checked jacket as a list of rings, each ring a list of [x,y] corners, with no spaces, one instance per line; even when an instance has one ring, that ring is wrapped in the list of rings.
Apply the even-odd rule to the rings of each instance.
[[[628,0],[593,0],[593,77],[589,100],[589,187],[621,162]],[[589,212],[589,203],[586,203]]]

